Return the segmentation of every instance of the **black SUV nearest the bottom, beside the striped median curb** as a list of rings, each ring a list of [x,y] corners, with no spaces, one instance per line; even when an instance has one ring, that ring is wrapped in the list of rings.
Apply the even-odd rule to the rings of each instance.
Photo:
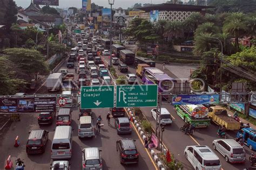
[[[118,139],[117,152],[119,153],[121,164],[132,164],[139,162],[139,153],[133,139]]]

